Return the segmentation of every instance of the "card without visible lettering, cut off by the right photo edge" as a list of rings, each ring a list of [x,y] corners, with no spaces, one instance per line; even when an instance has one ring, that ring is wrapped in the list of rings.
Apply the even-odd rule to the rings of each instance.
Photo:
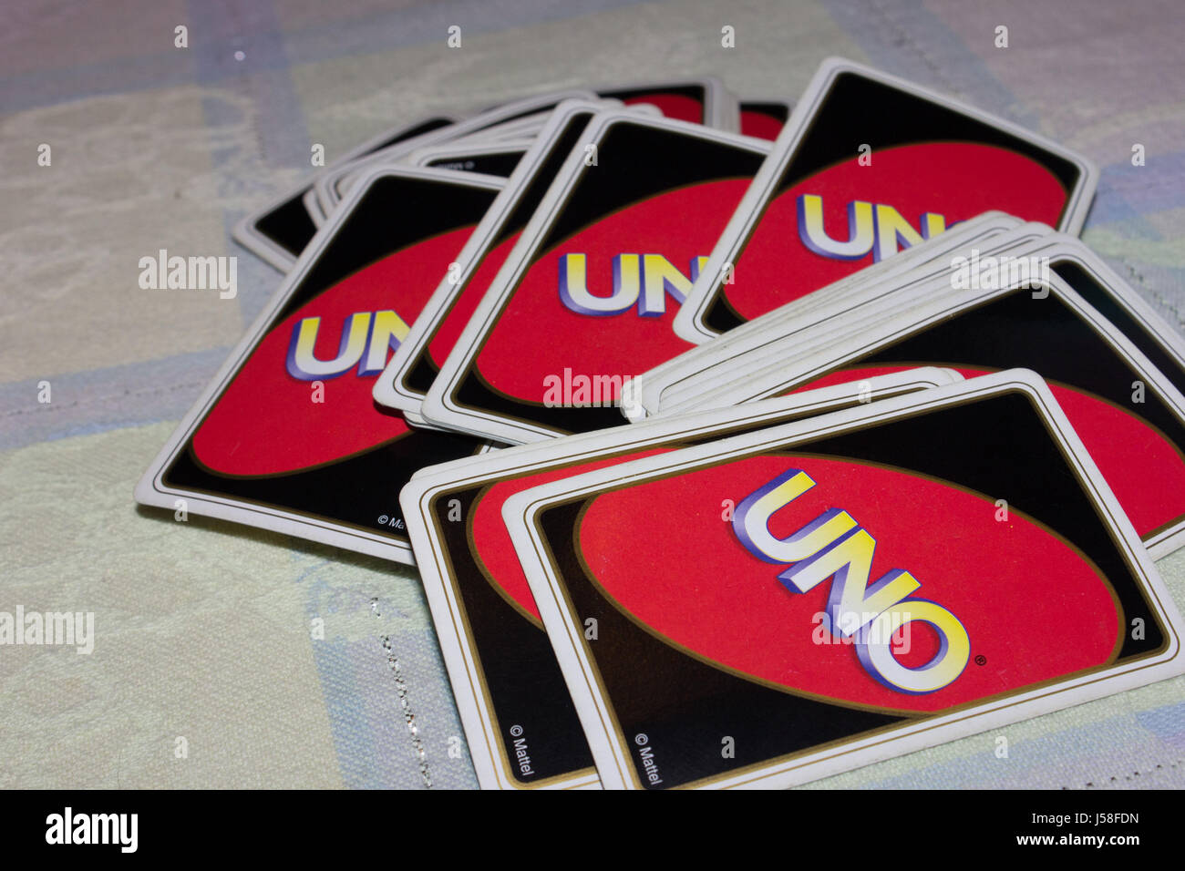
[[[946,366],[965,378],[1032,369],[1049,382],[1141,539],[1164,556],[1185,544],[1185,396],[1136,341],[1153,353],[1157,346],[1128,338],[1077,293],[1082,287],[1119,309],[1120,294],[1101,275],[1066,265],[1065,278],[1052,268],[1039,277],[1039,261],[1033,268],[1037,277],[1003,287],[950,292],[949,277],[935,282],[947,286],[946,295],[872,318],[857,338],[749,373],[684,408],[711,408],[725,396],[751,402],[896,367]],[[1159,359],[1172,361],[1162,352]]]

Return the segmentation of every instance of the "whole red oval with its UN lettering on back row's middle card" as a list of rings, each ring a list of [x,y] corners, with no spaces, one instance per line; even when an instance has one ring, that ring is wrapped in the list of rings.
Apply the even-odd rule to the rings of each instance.
[[[666,191],[539,251],[486,337],[476,374],[542,405],[543,379],[565,367],[642,372],[691,348],[671,324],[748,186],[736,178]]]

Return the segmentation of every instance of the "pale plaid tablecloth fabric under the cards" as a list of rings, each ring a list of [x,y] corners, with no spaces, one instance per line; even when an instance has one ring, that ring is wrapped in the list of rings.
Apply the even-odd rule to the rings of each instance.
[[[332,160],[427,111],[588,83],[718,75],[741,96],[795,100],[840,55],[1090,156],[1102,177],[1084,241],[1185,329],[1176,0],[5,11],[0,610],[94,611],[95,647],[0,647],[0,787],[476,783],[449,752],[462,730],[415,570],[132,501],[278,283],[230,229],[309,172],[314,143]],[[460,49],[446,44],[451,25]],[[237,255],[238,295],[141,289],[137,262],[160,249]],[[1185,551],[1159,568],[1185,607]],[[1185,678],[812,786],[1181,787]]]

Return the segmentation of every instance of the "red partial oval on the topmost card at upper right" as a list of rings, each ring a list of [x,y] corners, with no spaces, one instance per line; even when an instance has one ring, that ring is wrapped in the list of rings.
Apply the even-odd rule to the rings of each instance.
[[[995,146],[929,142],[870,156],[867,166],[856,156],[815,173],[769,204],[737,261],[734,283],[723,286],[742,318],[752,320],[873,262],[871,249],[856,260],[839,260],[808,248],[799,219],[803,194],[821,198],[824,229],[838,242],[851,239],[853,200],[891,206],[918,233],[927,212],[943,216],[947,226],[993,209],[1056,226],[1065,205],[1065,188],[1056,175]],[[873,210],[873,239],[891,241],[891,217]]]

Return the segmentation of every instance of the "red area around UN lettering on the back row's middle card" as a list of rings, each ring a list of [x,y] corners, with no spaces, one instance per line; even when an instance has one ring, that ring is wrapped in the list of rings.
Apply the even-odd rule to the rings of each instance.
[[[543,403],[544,378],[636,376],[692,347],[671,327],[679,303],[664,294],[661,314],[638,307],[592,316],[564,306],[561,256],[585,256],[588,290],[613,293],[613,260],[620,254],[660,254],[684,276],[693,258],[706,257],[732,216],[747,179],[709,181],[635,203],[581,230],[539,256],[511,296],[478,354],[481,376],[504,393]],[[616,396],[611,397],[616,398]]]

